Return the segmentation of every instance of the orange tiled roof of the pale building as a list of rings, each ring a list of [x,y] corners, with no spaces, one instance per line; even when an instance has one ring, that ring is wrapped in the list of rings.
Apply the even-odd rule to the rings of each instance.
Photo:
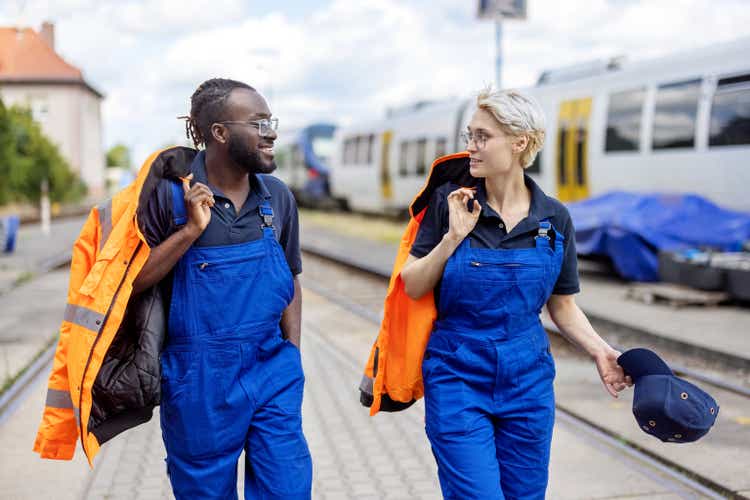
[[[31,28],[0,27],[0,83],[81,84],[103,97]]]

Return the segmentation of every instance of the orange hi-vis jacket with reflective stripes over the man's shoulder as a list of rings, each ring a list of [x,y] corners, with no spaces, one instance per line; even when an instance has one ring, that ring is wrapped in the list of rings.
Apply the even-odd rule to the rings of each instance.
[[[158,373],[156,377],[144,377],[145,385],[136,387],[155,393],[153,402],[145,408],[132,408],[131,401],[142,395],[117,394],[116,389],[122,391],[121,385],[114,388],[116,384],[102,383],[97,376],[103,363],[112,360],[108,351],[114,349],[115,338],[124,339],[119,344],[129,341],[123,318],[141,296],[130,300],[133,281],[150,255],[137,223],[139,207],[145,206],[162,178],[187,175],[195,154],[197,151],[182,147],[154,153],[132,184],[91,210],[73,246],[68,301],[42,423],[34,442],[34,451],[42,458],[72,459],[80,436],[89,465],[93,466],[102,442],[151,418],[153,406],[158,404]],[[126,350],[130,358],[136,347]],[[159,348],[160,345],[151,346],[152,352],[148,353],[150,359],[156,359],[157,367]],[[114,371],[122,372],[125,363],[133,362],[124,360],[126,357],[115,360]],[[110,408],[106,418],[96,421],[96,430],[90,429],[92,412],[101,414],[103,407]]]

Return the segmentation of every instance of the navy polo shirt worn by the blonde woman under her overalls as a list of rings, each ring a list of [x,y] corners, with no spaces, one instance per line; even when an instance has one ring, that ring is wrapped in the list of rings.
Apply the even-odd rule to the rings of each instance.
[[[474,198],[482,206],[474,229],[469,233],[472,248],[533,248],[534,238],[538,234],[539,222],[547,219],[557,231],[565,237],[564,255],[560,276],[557,278],[552,293],[571,295],[580,291],[578,283],[578,261],[576,259],[575,230],[565,205],[544,194],[539,186],[528,175],[524,175],[526,187],[531,192],[529,215],[521,220],[508,233],[500,215],[487,203],[487,191],[484,182],[477,185]],[[419,225],[419,231],[410,253],[415,257],[424,257],[432,251],[443,235],[448,232],[448,195],[460,186],[444,184],[437,188],[430,198],[430,205]],[[436,287],[439,292],[440,285]],[[436,297],[437,298],[437,297]]]

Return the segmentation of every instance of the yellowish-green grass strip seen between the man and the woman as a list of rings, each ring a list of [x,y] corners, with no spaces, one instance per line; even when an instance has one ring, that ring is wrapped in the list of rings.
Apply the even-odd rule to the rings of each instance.
[[[382,243],[399,243],[407,224],[377,216],[307,209],[300,210],[300,218],[303,224],[309,222],[347,236]]]

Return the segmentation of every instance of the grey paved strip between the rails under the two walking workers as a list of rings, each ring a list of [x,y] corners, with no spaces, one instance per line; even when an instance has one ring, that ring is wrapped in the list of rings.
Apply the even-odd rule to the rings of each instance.
[[[357,384],[374,325],[309,289],[304,291],[303,310],[303,425],[314,462],[313,498],[441,498],[424,434],[422,403],[406,412],[374,418],[359,404]],[[33,454],[45,376],[39,377],[30,397],[0,426],[0,439],[8,445],[2,454],[0,497],[172,498],[158,412],[149,423],[104,445],[94,471],[88,469],[80,447],[73,462],[40,460]],[[597,389],[591,390],[599,395],[590,401],[594,411],[607,401]],[[242,477],[240,461],[240,492]],[[592,446],[564,424],[555,427],[547,497],[678,498],[659,477],[644,474],[611,450]]]

